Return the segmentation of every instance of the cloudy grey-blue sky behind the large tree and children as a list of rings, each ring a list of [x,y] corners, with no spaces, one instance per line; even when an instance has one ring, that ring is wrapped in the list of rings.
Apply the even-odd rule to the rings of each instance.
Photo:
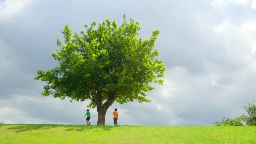
[[[203,126],[239,117],[256,101],[256,0],[0,0],[0,121],[85,124],[89,101],[42,96],[36,69],[56,67],[51,52],[69,22],[73,31],[125,13],[142,25],[139,37],[160,29],[155,43],[167,71],[148,92],[150,103],[114,103],[113,125]],[[97,109],[90,109],[97,124]]]

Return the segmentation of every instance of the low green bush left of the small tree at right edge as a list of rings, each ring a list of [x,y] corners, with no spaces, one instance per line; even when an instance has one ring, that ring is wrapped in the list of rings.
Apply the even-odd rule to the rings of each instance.
[[[218,120],[217,122],[215,122],[213,124],[214,124],[214,126],[244,126],[241,119],[239,119],[239,118],[229,119],[226,117],[223,117],[221,119],[221,121]]]

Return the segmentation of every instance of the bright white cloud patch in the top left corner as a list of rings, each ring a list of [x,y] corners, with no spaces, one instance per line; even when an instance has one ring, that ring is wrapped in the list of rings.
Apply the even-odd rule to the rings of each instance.
[[[21,13],[32,0],[4,0],[0,2],[0,19],[9,20],[13,15]]]

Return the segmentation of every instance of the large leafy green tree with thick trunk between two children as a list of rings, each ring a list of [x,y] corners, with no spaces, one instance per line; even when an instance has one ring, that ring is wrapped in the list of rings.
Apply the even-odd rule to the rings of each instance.
[[[64,43],[57,36],[61,49],[51,53],[58,67],[37,69],[35,80],[47,83],[42,95],[71,101],[90,99],[88,107],[97,107],[97,125],[105,124],[106,111],[114,101],[150,102],[146,92],[155,89],[152,83],[163,85],[166,70],[163,60],[156,58],[158,50],[153,49],[159,30],[143,40],[137,37],[139,22],[123,18],[120,27],[108,18],[97,29],[95,21],[90,27],[85,24],[86,32],[80,30],[80,35],[66,25],[61,30]]]

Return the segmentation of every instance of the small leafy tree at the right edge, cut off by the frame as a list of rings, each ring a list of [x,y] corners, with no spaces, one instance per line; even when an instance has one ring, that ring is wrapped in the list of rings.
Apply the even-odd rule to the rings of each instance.
[[[256,104],[255,102],[248,102],[246,106],[244,106],[246,109],[247,114],[242,114],[240,116],[240,119],[242,119],[246,125],[249,126],[256,126]]]

